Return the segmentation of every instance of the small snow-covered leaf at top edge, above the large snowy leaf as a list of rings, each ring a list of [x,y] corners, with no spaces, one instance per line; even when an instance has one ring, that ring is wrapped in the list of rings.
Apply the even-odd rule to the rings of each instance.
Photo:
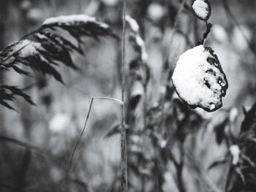
[[[195,0],[192,4],[192,9],[195,15],[202,20],[208,20],[211,15],[210,4],[205,0]]]

